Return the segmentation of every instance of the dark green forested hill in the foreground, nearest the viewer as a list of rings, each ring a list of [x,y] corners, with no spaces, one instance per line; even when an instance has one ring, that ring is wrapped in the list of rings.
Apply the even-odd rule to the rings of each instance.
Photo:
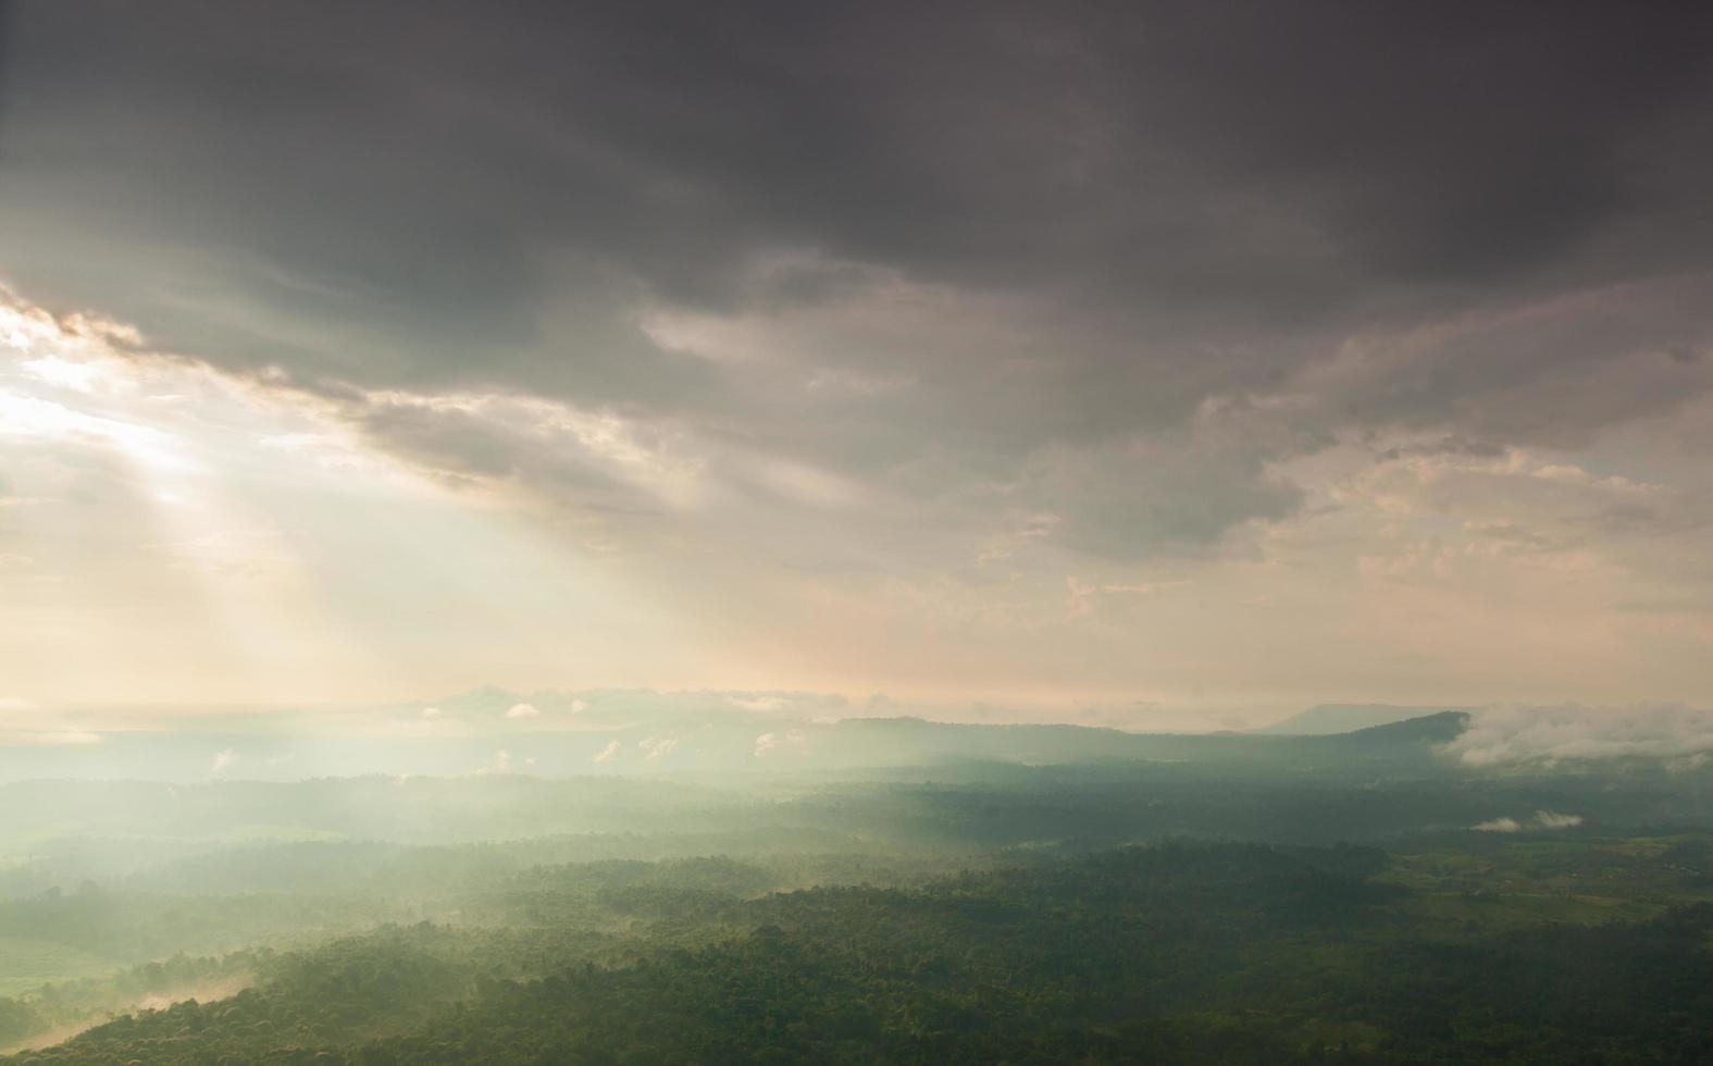
[[[505,929],[389,927],[46,1063],[1692,1063],[1713,905],[1477,927],[1372,848],[1161,845],[920,889],[541,871]],[[714,874],[709,877],[709,874]],[[677,877],[677,881],[673,879]],[[507,903],[509,901],[509,903]],[[629,932],[620,932],[629,929]]]

